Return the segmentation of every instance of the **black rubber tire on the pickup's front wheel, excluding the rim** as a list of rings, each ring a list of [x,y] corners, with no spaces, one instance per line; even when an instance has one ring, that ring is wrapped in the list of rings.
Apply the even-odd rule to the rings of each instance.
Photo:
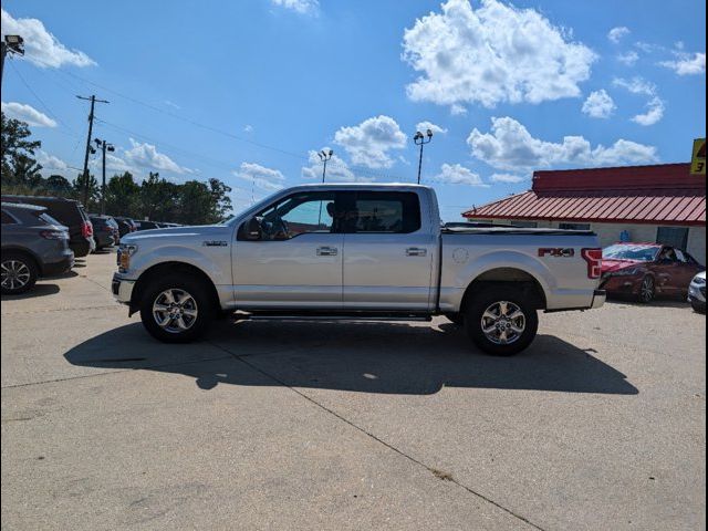
[[[177,293],[184,292],[194,300],[194,305],[187,300],[187,306],[184,308],[184,311],[196,311],[194,321],[187,314],[181,316],[181,324],[188,325],[186,330],[175,330],[179,329],[179,319],[171,321],[174,325],[160,326],[157,322],[158,317],[154,314],[153,306],[158,302],[167,302],[160,295],[164,295],[168,290],[176,290]],[[186,298],[181,298],[176,302],[184,302]],[[201,337],[215,316],[215,301],[205,282],[179,273],[169,274],[152,282],[143,293],[139,306],[143,325],[153,337],[164,343],[189,343]],[[168,317],[168,312],[163,312],[162,315]]]

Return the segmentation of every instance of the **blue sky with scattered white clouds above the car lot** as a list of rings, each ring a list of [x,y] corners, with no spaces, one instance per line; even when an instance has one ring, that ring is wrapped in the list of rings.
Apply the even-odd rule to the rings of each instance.
[[[687,162],[706,129],[700,1],[8,0],[2,106],[42,140],[46,174],[217,177],[238,210],[332,180],[424,183],[447,220],[530,187],[534,169]],[[98,173],[96,162],[92,163]]]

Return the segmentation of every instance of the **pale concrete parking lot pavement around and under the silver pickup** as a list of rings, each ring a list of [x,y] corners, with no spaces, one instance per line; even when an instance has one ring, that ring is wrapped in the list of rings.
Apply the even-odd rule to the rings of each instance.
[[[706,320],[543,315],[512,358],[429,323],[164,345],[112,253],[2,301],[2,529],[704,529]]]

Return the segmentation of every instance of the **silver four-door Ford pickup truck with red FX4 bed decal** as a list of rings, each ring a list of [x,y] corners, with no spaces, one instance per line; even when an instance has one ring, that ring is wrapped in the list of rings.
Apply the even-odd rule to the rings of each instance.
[[[212,226],[129,235],[113,293],[160,341],[211,320],[446,315],[485,352],[531,343],[538,311],[601,306],[590,231],[445,227],[435,190],[305,185]]]

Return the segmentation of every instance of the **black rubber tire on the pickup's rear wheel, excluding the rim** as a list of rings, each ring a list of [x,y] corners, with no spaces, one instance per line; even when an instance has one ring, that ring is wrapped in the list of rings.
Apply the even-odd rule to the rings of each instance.
[[[500,311],[498,312],[500,317],[498,321],[485,317],[485,322],[489,324],[487,330],[493,329],[491,333],[485,333],[482,326],[485,312],[492,306],[500,309],[504,302],[508,303],[506,304],[508,309],[507,315],[502,317]],[[512,311],[514,306],[521,314],[507,320],[507,316],[517,315],[516,310]],[[491,314],[494,314],[494,312],[490,312],[489,315]],[[494,333],[499,333],[500,329],[498,326],[502,327],[503,335],[500,333],[499,337],[496,339],[497,341],[493,341],[491,336]],[[511,326],[516,327],[512,330]],[[472,294],[466,309],[465,329],[475,344],[487,354],[512,356],[529,346],[535,337],[535,333],[539,330],[538,310],[521,290],[509,285],[490,285]],[[517,333],[516,330],[521,332]],[[508,337],[507,334],[511,334],[511,336]],[[504,343],[502,337],[508,337],[509,342]]]

